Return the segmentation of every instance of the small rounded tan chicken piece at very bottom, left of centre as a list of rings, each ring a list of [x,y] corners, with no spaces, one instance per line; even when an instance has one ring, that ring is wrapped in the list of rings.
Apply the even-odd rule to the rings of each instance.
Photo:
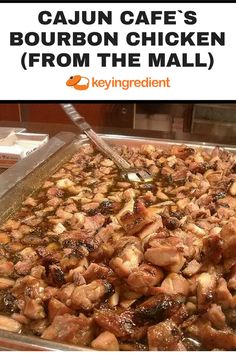
[[[91,342],[91,347],[102,351],[119,351],[119,343],[116,336],[104,331]]]

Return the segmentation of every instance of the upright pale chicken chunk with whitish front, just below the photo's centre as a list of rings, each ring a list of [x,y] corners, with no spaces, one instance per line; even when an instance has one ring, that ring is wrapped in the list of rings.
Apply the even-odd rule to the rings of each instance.
[[[141,242],[136,237],[122,237],[109,265],[121,277],[127,277],[143,260]]]

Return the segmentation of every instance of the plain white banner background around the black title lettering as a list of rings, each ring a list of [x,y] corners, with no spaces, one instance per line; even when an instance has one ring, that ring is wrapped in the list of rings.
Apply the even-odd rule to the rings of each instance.
[[[48,10],[56,14],[63,10],[67,18],[73,18],[74,11],[108,11],[113,12],[112,25],[42,25],[38,22],[38,13]],[[139,11],[151,10],[192,10],[197,13],[197,23],[186,25],[183,15],[177,16],[176,25],[163,25],[160,21],[156,25],[123,25],[120,22],[120,13],[131,10],[135,14]],[[236,4],[230,3],[1,3],[0,4],[0,100],[235,100],[236,99]],[[119,47],[108,46],[77,46],[57,47],[42,46],[29,47],[10,46],[10,32],[94,32],[109,31],[119,32]],[[128,32],[225,32],[226,45],[211,46],[161,46],[153,47],[134,46],[126,44],[125,37]],[[79,67],[47,67],[42,68],[40,64],[29,68],[27,71],[21,67],[21,56],[23,52],[49,52],[49,53],[83,53],[89,52],[91,66],[89,68]],[[97,52],[136,52],[141,53],[141,67],[112,68],[100,67],[100,59],[96,57]],[[212,70],[207,68],[149,68],[147,64],[147,53],[153,52],[175,52],[181,58],[181,53],[187,52],[190,57],[195,52],[200,52],[202,58],[211,52],[215,59]],[[168,57],[168,56],[167,56]],[[109,61],[110,62],[110,61]],[[122,90],[113,88],[89,88],[86,91],[78,91],[67,87],[66,80],[73,75],[82,75],[96,79],[165,79],[171,80],[171,88],[132,88]]]

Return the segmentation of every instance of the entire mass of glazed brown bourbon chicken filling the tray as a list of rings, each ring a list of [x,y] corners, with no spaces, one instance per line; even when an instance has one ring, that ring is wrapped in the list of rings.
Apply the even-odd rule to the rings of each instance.
[[[97,350],[236,350],[236,157],[90,144],[0,225],[0,328]]]

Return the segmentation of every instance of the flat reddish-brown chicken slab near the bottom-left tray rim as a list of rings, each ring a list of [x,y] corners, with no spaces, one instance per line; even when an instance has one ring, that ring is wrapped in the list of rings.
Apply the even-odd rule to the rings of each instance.
[[[94,337],[93,320],[80,314],[58,315],[43,332],[41,338],[70,344],[87,346]]]

